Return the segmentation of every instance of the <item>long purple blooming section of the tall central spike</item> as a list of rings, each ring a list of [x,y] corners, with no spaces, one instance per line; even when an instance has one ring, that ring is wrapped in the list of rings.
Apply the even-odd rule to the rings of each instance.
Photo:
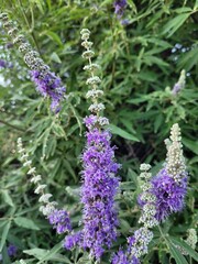
[[[87,125],[89,129],[89,125]],[[117,211],[114,196],[119,179],[114,177],[120,165],[114,162],[111,134],[95,128],[87,132],[87,146],[82,155],[84,172],[81,202],[84,204],[82,248],[100,258],[105,246],[117,239]]]

